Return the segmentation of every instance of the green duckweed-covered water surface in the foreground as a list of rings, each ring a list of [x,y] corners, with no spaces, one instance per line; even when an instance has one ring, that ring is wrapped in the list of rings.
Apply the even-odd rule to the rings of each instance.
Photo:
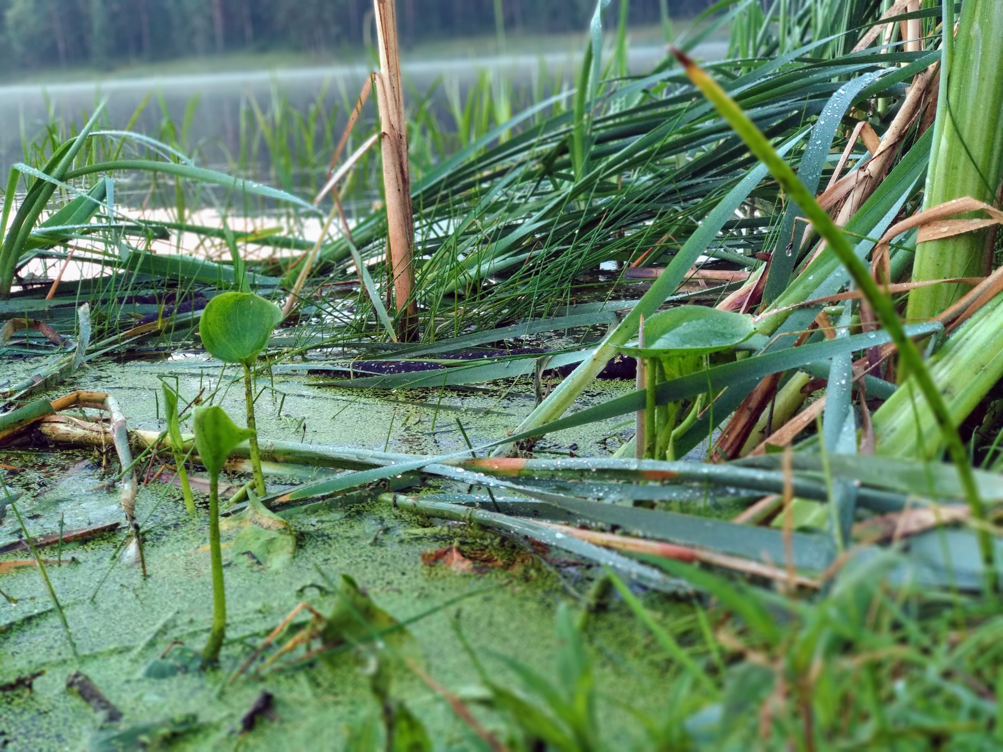
[[[30,366],[29,359],[24,367]],[[220,364],[208,362],[204,354],[106,364],[81,375],[79,385],[85,382],[90,389],[114,394],[130,428],[157,430],[163,427],[162,405],[155,396],[160,376],[177,376],[183,396],[191,399],[201,389],[217,389]],[[241,385],[230,387],[228,379],[225,374],[217,397],[239,415]],[[267,385],[258,402],[263,439],[441,453],[463,445],[457,419],[471,441],[479,443],[534,404],[528,382],[441,395],[417,390],[368,395],[317,386],[317,380],[277,375],[260,381]],[[612,382],[597,387],[606,397],[624,388]],[[575,443],[580,452],[605,453],[603,439],[612,428],[590,426],[574,437],[551,437],[549,445],[555,451],[563,445],[567,453],[567,445]],[[9,482],[24,491],[17,509],[36,539],[58,532],[60,520],[69,530],[122,519],[116,491],[104,485],[116,466],[100,447],[67,449],[36,439],[4,451],[0,461],[19,468],[8,471]],[[144,477],[155,472],[143,469]],[[302,479],[270,475],[270,490]],[[395,483],[403,485],[405,480]],[[231,482],[239,485],[243,480],[235,477]],[[424,670],[474,708],[485,699],[486,689],[461,649],[454,626],[475,646],[495,681],[519,684],[505,663],[512,658],[557,681],[556,609],[562,602],[584,608],[595,568],[561,551],[538,557],[540,551],[528,551],[524,542],[395,509],[378,498],[384,487],[286,512],[296,535],[296,550],[288,560],[270,556],[267,548],[257,553],[238,550],[241,523],[235,517],[224,519],[230,618],[218,671],[201,672],[191,660],[192,652],[201,650],[211,620],[206,516],[189,518],[180,489],[159,478],[140,487],[136,505],[138,518],[144,520],[148,577],[142,577],[137,563],[120,560],[124,528],[86,542],[65,543],[61,566],[54,562],[54,546],[39,549],[50,561],[47,573],[65,611],[77,658],[37,569],[4,572],[0,684],[8,687],[0,692],[0,738],[5,748],[138,748],[127,746],[121,736],[133,727],[142,727],[136,732],[139,737],[145,734],[143,738],[163,743],[170,739],[172,748],[180,749],[230,748],[238,742],[242,749],[340,748],[351,725],[376,705],[367,666],[353,653],[300,663],[280,660],[269,669],[228,681],[297,604],[307,602],[321,613],[330,612],[332,583],[340,575],[354,578],[380,609],[405,622]],[[465,490],[448,483],[440,488],[450,489]],[[204,494],[197,497],[205,503]],[[20,537],[20,527],[8,511],[0,526],[0,545]],[[436,551],[454,545],[465,551],[460,557],[472,561],[471,567],[435,563]],[[26,555],[24,550],[11,552],[0,561]],[[302,612],[277,645],[307,627],[308,616]],[[637,730],[632,732],[627,719],[615,712],[615,703],[629,699],[635,707],[657,712],[666,690],[664,677],[657,666],[641,660],[643,630],[621,609],[593,618],[589,629],[598,648],[594,681],[614,703],[604,702],[602,722],[620,738],[630,738]],[[67,689],[67,678],[76,671],[93,682],[121,720],[108,724],[107,712],[95,713],[80,693]],[[30,691],[9,686],[24,677],[34,677]],[[411,672],[401,673],[394,682],[395,696],[427,726],[436,749],[470,748],[469,728],[440,694]],[[263,692],[274,698],[267,717],[252,721],[254,730],[242,733],[242,717]],[[484,714],[488,728],[492,722],[499,723]],[[118,737],[106,739],[111,730]],[[119,743],[125,746],[113,746]]]

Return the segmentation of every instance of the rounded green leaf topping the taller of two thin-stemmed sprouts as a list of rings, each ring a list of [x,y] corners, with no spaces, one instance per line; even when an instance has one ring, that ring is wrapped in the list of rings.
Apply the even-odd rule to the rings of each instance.
[[[206,349],[225,363],[251,365],[282,321],[282,309],[253,293],[223,293],[202,312],[199,334]]]

